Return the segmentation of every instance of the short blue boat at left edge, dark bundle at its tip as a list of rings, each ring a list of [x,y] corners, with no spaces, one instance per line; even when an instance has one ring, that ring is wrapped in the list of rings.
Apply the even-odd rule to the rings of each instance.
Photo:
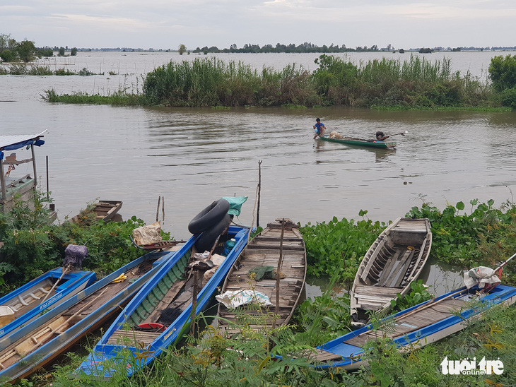
[[[97,279],[93,271],[55,268],[0,298],[0,338],[56,308]],[[0,366],[1,367],[1,366]]]

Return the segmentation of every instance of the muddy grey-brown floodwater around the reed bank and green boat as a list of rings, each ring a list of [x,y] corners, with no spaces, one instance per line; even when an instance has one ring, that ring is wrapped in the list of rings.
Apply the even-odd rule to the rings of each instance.
[[[446,56],[451,57],[452,66],[459,64],[455,69],[482,77],[496,54],[500,53]],[[432,55],[442,59],[440,54]],[[57,93],[139,90],[142,73],[171,58],[194,57],[198,56],[79,52],[76,57],[49,62],[57,69],[86,67],[105,71],[105,75],[0,76],[0,133],[49,130],[45,145],[36,150],[37,167],[45,191],[48,156],[48,189],[59,221],[100,198],[123,201],[119,213],[124,219],[136,215],[151,223],[156,220],[161,196],[164,230],[176,239],[186,239],[188,222],[201,209],[222,196],[235,195],[248,196],[237,221],[250,225],[260,161],[260,225],[278,217],[301,225],[334,216],[359,219],[360,210],[368,210],[367,217],[372,220],[388,221],[404,216],[423,201],[438,208],[464,201],[466,210],[474,198],[484,202],[493,198],[495,206],[513,201],[516,112],[110,107],[49,104],[40,97],[51,88]],[[295,62],[313,70],[317,54],[220,57],[257,68]],[[364,53],[353,60],[370,57]],[[373,138],[377,130],[409,133],[393,138],[397,150],[323,143],[312,139],[316,117],[322,118],[328,131],[347,136]],[[25,168],[30,169],[19,165],[16,174],[31,173]],[[11,176],[18,175],[11,172]],[[159,218],[163,218],[161,207]]]

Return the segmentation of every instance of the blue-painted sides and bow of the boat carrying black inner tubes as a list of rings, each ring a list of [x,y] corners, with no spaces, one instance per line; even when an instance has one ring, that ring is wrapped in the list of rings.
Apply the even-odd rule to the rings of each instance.
[[[203,311],[206,306],[208,306],[211,297],[216,292],[216,287],[224,280],[231,266],[233,266],[233,263],[235,263],[236,259],[245,248],[249,232],[250,230],[247,228],[229,227],[228,234],[236,239],[235,246],[225,258],[225,261],[223,261],[221,266],[216,270],[216,273],[213,274],[210,280],[197,294],[197,313]],[[192,302],[184,306],[180,316],[177,316],[165,331],[156,334],[156,337],[152,338],[150,343],[142,343],[139,340],[132,340],[134,345],[129,345],[129,343],[126,345],[124,340],[120,340],[120,342],[116,344],[112,343],[112,336],[114,336],[117,331],[123,330],[124,324],[131,321],[134,315],[143,313],[143,309],[139,311],[139,308],[145,306],[148,297],[151,297],[151,295],[157,291],[155,288],[161,286],[162,281],[165,280],[170,273],[179,271],[182,260],[184,260],[185,256],[190,256],[194,243],[198,238],[199,235],[190,238],[187,243],[177,251],[174,258],[160,267],[158,273],[156,273],[140,292],[136,294],[136,297],[127,304],[122,314],[118,316],[112,326],[106,331],[105,335],[102,336],[102,339],[100,339],[99,343],[93,348],[93,352],[88,355],[76,372],[83,372],[84,374],[93,375],[100,379],[109,379],[115,372],[115,369],[126,369],[127,376],[131,376],[134,372],[139,371],[139,369],[151,363],[153,359],[160,355],[167,347],[174,345],[182,338],[182,334],[186,331],[191,322]],[[131,325],[131,323],[129,325]],[[129,338],[131,338],[133,334],[136,338],[135,331],[126,332],[129,332]],[[136,342],[138,342],[139,347],[136,347]],[[129,355],[129,357],[132,356],[134,361],[124,364],[124,357],[119,355],[122,351],[125,351],[124,356],[126,354]]]

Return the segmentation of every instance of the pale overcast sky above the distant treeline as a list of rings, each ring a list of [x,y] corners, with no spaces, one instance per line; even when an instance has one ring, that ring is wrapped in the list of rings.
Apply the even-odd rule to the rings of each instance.
[[[0,33],[37,47],[512,47],[515,20],[515,0],[0,1]]]

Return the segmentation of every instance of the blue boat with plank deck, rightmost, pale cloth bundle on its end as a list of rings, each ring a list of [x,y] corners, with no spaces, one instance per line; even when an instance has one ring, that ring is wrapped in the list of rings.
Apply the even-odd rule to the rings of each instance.
[[[368,340],[385,334],[399,350],[414,350],[461,331],[493,306],[515,302],[516,287],[498,285],[486,293],[479,292],[476,286],[469,290],[462,287],[385,318],[384,323],[392,327],[385,332],[375,332],[369,324],[319,345],[311,359],[319,368],[358,369],[366,363],[363,355]]]

